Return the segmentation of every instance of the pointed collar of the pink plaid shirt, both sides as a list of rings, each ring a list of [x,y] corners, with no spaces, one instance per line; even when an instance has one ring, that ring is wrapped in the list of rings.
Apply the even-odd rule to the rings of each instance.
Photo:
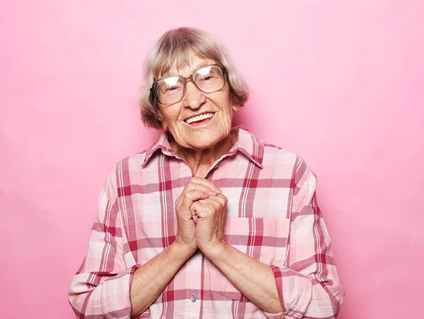
[[[225,156],[235,155],[237,152],[240,152],[242,155],[245,155],[245,157],[254,162],[254,164],[257,164],[259,168],[262,168],[264,143],[262,143],[262,141],[259,140],[259,138],[256,138],[256,136],[254,136],[252,133],[247,131],[247,128],[244,126],[237,126],[232,128],[230,133],[237,135],[237,142],[232,145],[232,148]],[[146,157],[143,161],[143,164],[141,164],[141,167],[145,167],[148,161],[153,157],[153,155],[155,155],[158,150],[161,150],[163,155],[181,159],[181,157],[175,154],[175,152],[172,150],[167,134],[167,132],[160,134],[160,138],[146,150]]]

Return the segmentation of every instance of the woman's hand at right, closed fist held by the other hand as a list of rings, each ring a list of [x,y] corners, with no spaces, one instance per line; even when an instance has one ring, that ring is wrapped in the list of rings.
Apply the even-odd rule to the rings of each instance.
[[[228,199],[223,194],[196,200],[192,214],[199,219],[196,224],[196,244],[206,257],[225,246],[224,226]]]

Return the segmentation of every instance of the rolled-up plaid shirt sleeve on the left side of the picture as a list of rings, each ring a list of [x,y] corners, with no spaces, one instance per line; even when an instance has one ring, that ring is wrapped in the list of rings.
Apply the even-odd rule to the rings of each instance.
[[[120,217],[109,199],[110,179],[100,193],[86,258],[68,292],[76,318],[131,318],[129,290],[140,265],[126,267]]]

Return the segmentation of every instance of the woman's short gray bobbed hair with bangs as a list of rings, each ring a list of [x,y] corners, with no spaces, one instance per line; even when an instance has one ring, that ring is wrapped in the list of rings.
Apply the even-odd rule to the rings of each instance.
[[[189,66],[190,49],[227,69],[231,102],[242,106],[249,99],[247,83],[237,72],[230,54],[218,40],[195,28],[169,30],[155,42],[144,61],[139,107],[141,119],[146,127],[162,128],[158,119],[158,102],[150,91],[153,82],[173,66],[177,69]]]

